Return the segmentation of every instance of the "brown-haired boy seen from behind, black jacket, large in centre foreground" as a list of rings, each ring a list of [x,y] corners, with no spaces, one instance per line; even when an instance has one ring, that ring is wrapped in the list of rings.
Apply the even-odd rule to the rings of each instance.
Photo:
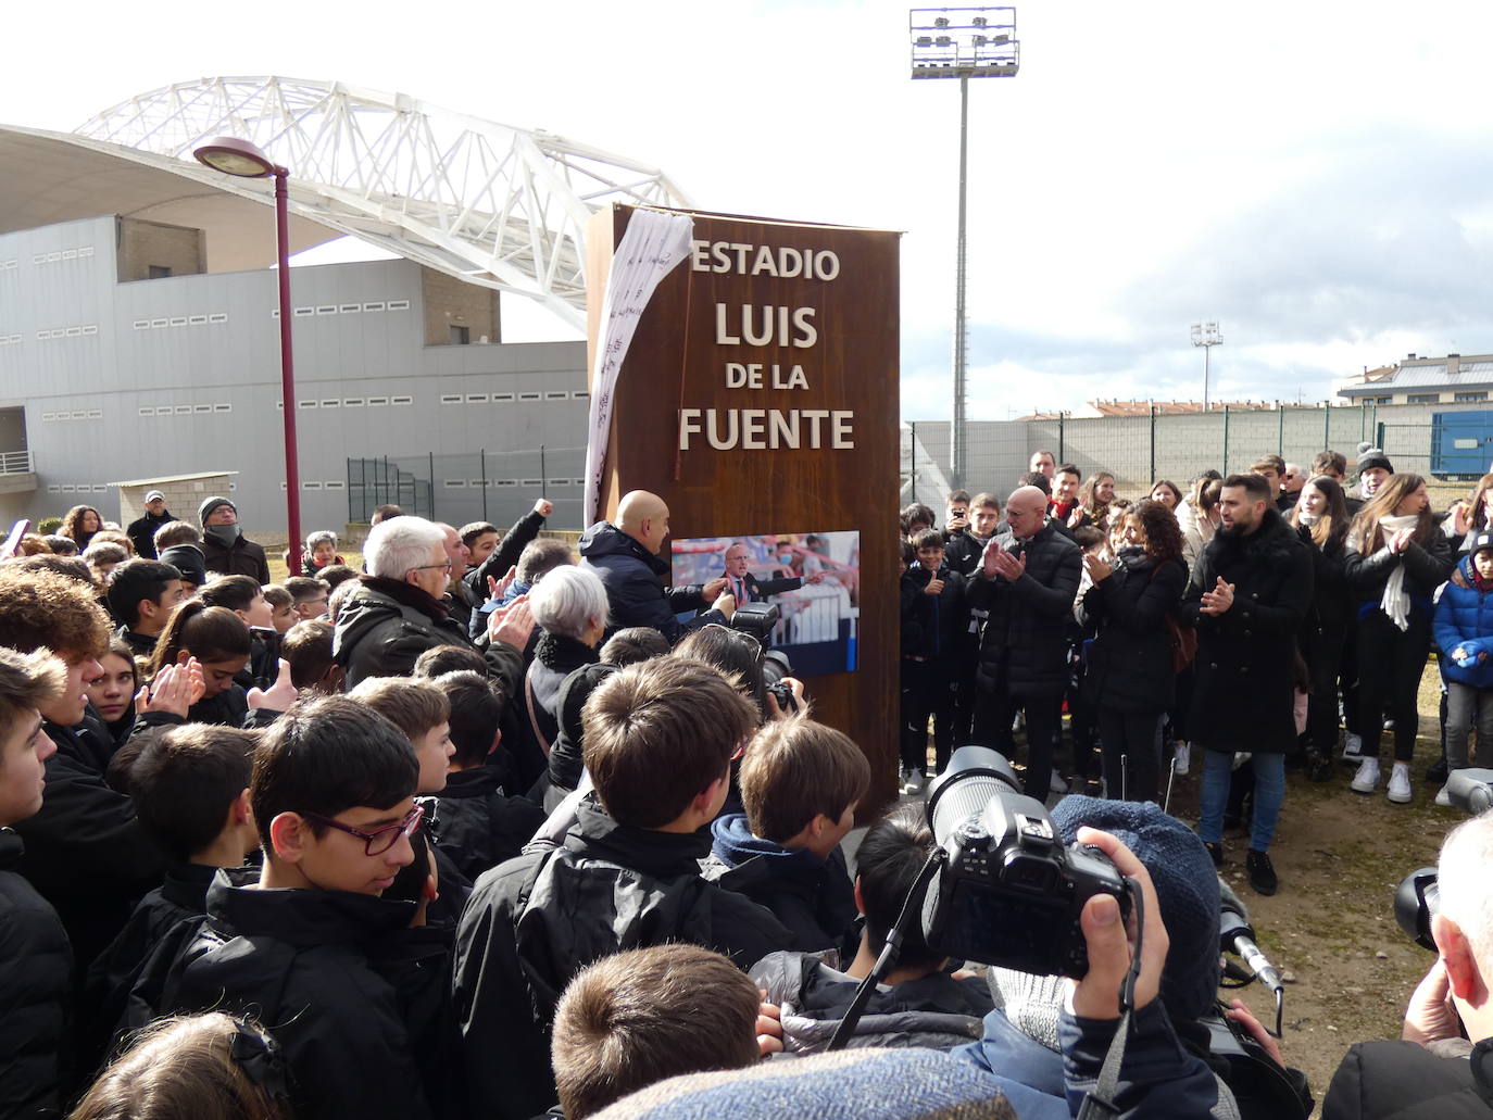
[[[715,669],[658,657],[609,676],[582,720],[596,799],[558,847],[533,845],[478,880],[457,929],[470,1116],[554,1104],[554,1008],[597,957],[688,941],[745,968],[791,941],[769,911],[699,874],[755,706]]]

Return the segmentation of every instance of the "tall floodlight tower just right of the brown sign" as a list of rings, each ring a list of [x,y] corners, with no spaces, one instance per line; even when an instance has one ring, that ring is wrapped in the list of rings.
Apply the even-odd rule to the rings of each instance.
[[[954,254],[954,423],[950,485],[964,485],[964,208],[969,169],[969,79],[1015,78],[1021,64],[1015,7],[914,7],[908,13],[914,78],[959,79],[959,246]]]

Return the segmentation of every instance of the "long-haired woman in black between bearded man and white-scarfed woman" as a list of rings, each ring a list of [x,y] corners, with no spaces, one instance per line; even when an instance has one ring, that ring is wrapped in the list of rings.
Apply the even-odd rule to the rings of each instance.
[[[1318,475],[1303,485],[1290,514],[1296,535],[1311,548],[1315,588],[1299,638],[1311,678],[1306,775],[1312,781],[1332,777],[1332,757],[1338,748],[1338,675],[1356,602],[1342,569],[1348,520],[1342,485],[1330,475]]]

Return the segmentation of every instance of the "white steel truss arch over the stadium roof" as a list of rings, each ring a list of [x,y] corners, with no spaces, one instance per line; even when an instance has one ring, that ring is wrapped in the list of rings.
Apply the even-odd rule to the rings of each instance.
[[[203,78],[130,97],[76,134],[184,161],[248,199],[263,184],[193,160],[240,136],[290,169],[291,211],[584,329],[585,223],[614,202],[690,208],[661,170],[405,94],[293,78]]]

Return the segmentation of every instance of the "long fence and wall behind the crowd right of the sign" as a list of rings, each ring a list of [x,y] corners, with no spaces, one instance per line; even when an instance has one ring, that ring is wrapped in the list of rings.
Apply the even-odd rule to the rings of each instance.
[[[1178,415],[975,421],[967,426],[964,485],[1006,494],[1033,452],[1051,451],[1059,463],[1078,466],[1084,478],[1111,472],[1120,491],[1133,496],[1160,478],[1185,485],[1209,467],[1223,473],[1248,470],[1266,454],[1309,467],[1318,451],[1333,448],[1351,464],[1360,444],[1374,444],[1384,447],[1397,469],[1450,487],[1489,469],[1493,442],[1481,442],[1483,432],[1493,439],[1493,411],[1477,405],[1282,405]],[[942,502],[948,463],[948,421],[903,426],[905,502]]]

